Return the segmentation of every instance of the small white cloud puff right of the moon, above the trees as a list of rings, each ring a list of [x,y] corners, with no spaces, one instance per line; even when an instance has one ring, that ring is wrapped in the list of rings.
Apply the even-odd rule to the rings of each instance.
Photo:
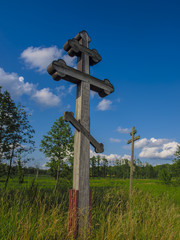
[[[60,98],[53,94],[49,88],[36,91],[32,98],[41,105],[54,107],[60,103]]]

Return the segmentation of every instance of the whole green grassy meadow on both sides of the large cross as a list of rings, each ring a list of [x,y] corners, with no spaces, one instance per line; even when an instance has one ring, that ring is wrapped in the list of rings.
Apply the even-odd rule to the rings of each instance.
[[[0,239],[71,239],[68,235],[68,189],[60,179],[26,176],[23,184],[11,179],[6,191],[0,179]],[[180,239],[180,187],[158,180],[94,178],[90,239]]]

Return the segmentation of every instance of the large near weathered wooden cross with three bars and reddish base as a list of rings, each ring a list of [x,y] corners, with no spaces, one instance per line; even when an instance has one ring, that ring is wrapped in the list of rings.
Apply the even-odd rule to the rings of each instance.
[[[82,31],[64,44],[64,50],[69,56],[77,56],[77,69],[67,66],[62,59],[53,61],[47,68],[54,80],[64,79],[77,85],[76,116],[74,118],[69,112],[65,112],[64,116],[75,127],[73,190],[70,193],[73,200],[70,205],[75,208],[77,205],[77,209],[71,213],[70,230],[74,232],[74,237],[77,233],[80,239],[88,239],[89,230],[89,143],[95,147],[96,152],[104,150],[103,144],[90,135],[90,90],[97,92],[100,97],[114,91],[109,80],[99,80],[89,75],[89,67],[101,61],[98,52],[89,49],[90,41],[88,33]]]

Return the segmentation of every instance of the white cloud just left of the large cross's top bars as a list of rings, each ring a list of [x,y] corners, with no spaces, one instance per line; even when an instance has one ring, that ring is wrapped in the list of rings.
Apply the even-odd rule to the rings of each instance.
[[[47,66],[54,60],[63,59],[67,65],[75,66],[75,58],[65,55],[63,49],[57,46],[48,48],[28,47],[21,53],[21,59],[24,60],[26,66],[30,69],[36,69],[38,72],[45,73]]]

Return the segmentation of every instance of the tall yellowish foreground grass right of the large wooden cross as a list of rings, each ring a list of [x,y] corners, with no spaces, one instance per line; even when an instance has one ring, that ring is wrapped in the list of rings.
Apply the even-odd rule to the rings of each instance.
[[[180,239],[179,210],[168,198],[136,191],[125,201],[123,193],[117,194],[121,196],[119,201],[112,201],[106,208],[104,202],[99,206],[92,239]]]

